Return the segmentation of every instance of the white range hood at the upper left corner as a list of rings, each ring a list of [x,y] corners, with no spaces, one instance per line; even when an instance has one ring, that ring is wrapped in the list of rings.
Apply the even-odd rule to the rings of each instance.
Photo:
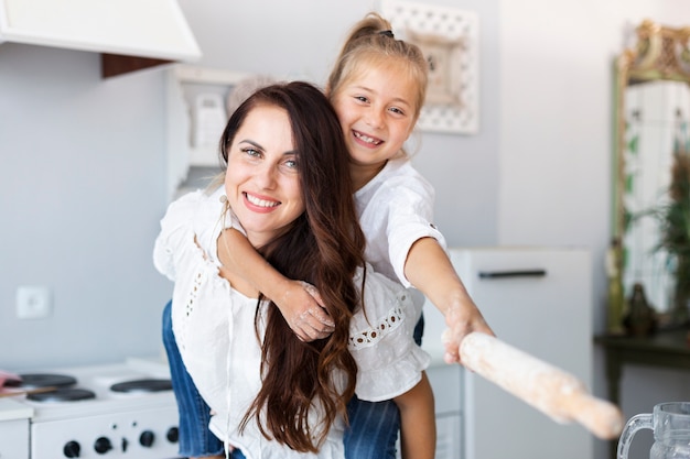
[[[202,55],[176,0],[0,0],[2,42],[162,61]]]

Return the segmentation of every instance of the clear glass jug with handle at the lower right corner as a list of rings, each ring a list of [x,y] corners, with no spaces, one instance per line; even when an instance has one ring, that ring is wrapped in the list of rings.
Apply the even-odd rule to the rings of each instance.
[[[616,458],[627,459],[638,430],[654,430],[649,459],[690,459],[690,402],[659,403],[651,414],[633,416],[621,435]]]

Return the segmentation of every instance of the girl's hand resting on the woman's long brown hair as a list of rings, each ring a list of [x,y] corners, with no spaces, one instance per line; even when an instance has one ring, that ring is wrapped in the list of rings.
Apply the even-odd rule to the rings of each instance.
[[[326,338],[335,329],[335,324],[323,307],[319,291],[306,282],[290,281],[280,302],[274,302],[292,331],[302,341]]]

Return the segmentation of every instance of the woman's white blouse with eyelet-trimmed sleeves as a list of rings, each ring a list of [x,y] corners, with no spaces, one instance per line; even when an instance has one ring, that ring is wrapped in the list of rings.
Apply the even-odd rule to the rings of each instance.
[[[224,227],[223,188],[212,195],[194,192],[172,203],[161,220],[154,248],[155,267],[175,282],[172,320],[184,364],[201,395],[215,413],[212,431],[238,447],[248,459],[344,457],[344,422],[337,419],[319,453],[300,453],[261,436],[256,419],[242,433],[239,422],[261,384],[260,324],[267,304],[257,305],[235,291],[219,275],[217,239]],[[233,217],[233,216],[230,216]],[[362,272],[356,275],[359,285]],[[358,375],[357,396],[365,401],[390,400],[412,389],[430,357],[412,339],[418,312],[409,291],[386,276],[367,270],[364,304],[351,321],[349,350]],[[263,336],[260,327],[259,336]],[[319,426],[319,411],[310,419]]]

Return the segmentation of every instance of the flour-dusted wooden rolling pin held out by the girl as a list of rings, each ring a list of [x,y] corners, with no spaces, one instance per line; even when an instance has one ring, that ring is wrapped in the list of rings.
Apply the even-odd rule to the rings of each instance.
[[[560,424],[575,420],[601,439],[621,435],[625,420],[614,404],[590,395],[572,374],[486,334],[460,343],[463,365]]]

